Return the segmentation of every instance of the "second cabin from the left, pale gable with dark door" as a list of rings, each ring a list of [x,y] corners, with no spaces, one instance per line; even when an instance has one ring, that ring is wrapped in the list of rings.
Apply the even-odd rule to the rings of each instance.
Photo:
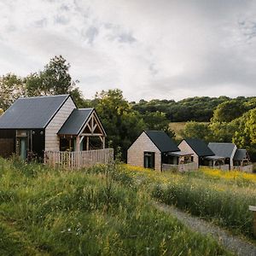
[[[189,164],[191,154],[181,151],[164,131],[143,131],[127,152],[127,163],[131,166],[167,171],[173,167],[179,171]],[[180,167],[180,168],[179,168]],[[189,166],[193,168],[193,166]]]

